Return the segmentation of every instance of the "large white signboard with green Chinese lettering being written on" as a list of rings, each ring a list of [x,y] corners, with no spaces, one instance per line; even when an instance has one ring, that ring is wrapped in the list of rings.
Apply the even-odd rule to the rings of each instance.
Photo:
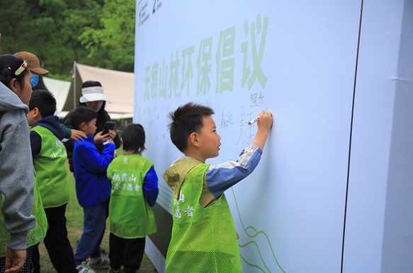
[[[137,1],[134,122],[159,177],[157,221],[171,221],[162,173],[181,156],[169,112],[215,110],[217,164],[236,161],[249,120],[271,111],[259,166],[225,192],[244,272],[341,272],[362,14],[361,0]],[[147,240],[159,272],[170,224]]]

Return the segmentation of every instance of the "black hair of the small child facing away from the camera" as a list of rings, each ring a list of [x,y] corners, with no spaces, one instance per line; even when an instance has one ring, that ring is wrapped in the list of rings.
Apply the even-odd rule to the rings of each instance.
[[[128,124],[123,128],[120,137],[123,142],[123,151],[142,153],[145,150],[145,130],[141,124]]]

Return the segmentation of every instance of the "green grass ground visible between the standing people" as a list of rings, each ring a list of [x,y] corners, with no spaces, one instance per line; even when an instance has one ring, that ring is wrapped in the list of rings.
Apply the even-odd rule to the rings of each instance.
[[[121,154],[121,151],[118,151],[118,154]],[[68,168],[69,169],[69,168]],[[70,243],[73,248],[73,252],[76,252],[77,243],[83,233],[83,209],[79,206],[76,197],[76,190],[74,187],[74,177],[73,173],[69,171],[67,178],[70,189],[70,202],[67,204],[66,209],[66,218],[67,218],[67,232]],[[106,250],[106,254],[109,252],[109,221],[106,221],[106,231],[103,236],[101,248]],[[56,272],[55,268],[50,262],[49,255],[45,248],[45,244],[42,242],[39,245],[40,252],[40,272],[42,273],[51,273]],[[106,273],[108,269],[97,269],[97,273]],[[152,265],[152,262],[148,259],[147,255],[144,255],[140,269],[137,271],[139,273],[157,273],[157,270]]]

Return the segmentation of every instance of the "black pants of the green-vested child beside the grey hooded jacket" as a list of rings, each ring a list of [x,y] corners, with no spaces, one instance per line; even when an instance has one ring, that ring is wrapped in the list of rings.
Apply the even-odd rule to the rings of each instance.
[[[58,273],[77,273],[74,263],[73,249],[67,238],[66,204],[60,207],[45,209],[49,229],[45,237],[45,247],[49,252],[50,261]],[[33,247],[33,273],[40,272],[40,255],[38,245]]]

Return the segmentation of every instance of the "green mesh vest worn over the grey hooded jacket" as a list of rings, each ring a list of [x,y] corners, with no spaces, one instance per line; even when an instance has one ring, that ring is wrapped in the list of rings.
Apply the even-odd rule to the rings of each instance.
[[[0,194],[0,206],[4,202],[4,195]],[[43,209],[42,198],[38,188],[38,181],[35,178],[35,197],[31,215],[36,217],[36,225],[28,231],[28,238],[26,246],[36,245],[40,243],[46,236],[47,232],[47,218],[45,210]],[[0,257],[6,256],[7,244],[10,241],[10,233],[7,232],[4,226],[4,215],[0,212]]]

